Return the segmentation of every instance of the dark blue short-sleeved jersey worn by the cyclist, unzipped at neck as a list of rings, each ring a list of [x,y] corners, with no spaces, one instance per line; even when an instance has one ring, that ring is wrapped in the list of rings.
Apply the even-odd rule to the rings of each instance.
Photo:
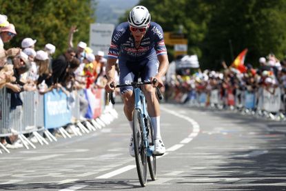
[[[143,59],[156,59],[158,55],[167,54],[163,30],[158,23],[150,22],[139,48],[135,47],[134,37],[129,28],[129,23],[120,23],[114,29],[109,58],[124,59],[127,61],[140,61]]]

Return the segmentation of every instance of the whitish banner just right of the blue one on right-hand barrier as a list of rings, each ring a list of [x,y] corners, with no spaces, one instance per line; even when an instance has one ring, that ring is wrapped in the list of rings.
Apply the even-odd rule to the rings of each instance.
[[[263,89],[263,108],[267,112],[278,112],[281,104],[280,96],[280,88],[269,88],[268,91]]]

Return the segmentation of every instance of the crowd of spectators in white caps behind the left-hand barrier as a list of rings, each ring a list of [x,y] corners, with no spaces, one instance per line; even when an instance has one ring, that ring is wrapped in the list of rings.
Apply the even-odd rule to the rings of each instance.
[[[99,51],[94,55],[83,41],[74,47],[74,32],[76,26],[70,28],[67,49],[59,57],[54,58],[56,46],[51,42],[37,47],[37,39],[30,37],[23,39],[18,48],[6,50],[4,44],[11,41],[17,32],[8,17],[0,14],[0,91],[6,88],[10,94],[11,110],[23,105],[20,96],[23,91],[45,94],[56,88],[64,89],[65,94],[69,94],[72,90],[78,90],[81,117],[84,118],[88,101],[81,90],[105,86],[106,59],[104,52]],[[1,143],[7,148],[23,147],[17,142],[17,136],[1,137]]]

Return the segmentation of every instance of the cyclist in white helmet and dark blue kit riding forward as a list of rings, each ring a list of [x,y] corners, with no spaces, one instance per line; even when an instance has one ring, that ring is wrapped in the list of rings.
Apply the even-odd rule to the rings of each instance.
[[[154,127],[155,155],[165,153],[160,132],[160,107],[156,98],[156,86],[163,86],[162,77],[167,72],[169,61],[167,49],[163,39],[163,30],[158,23],[151,22],[150,13],[144,6],[135,6],[130,11],[128,21],[116,26],[112,34],[112,41],[108,53],[106,75],[108,83],[105,86],[107,92],[112,92],[115,84],[114,72],[116,60],[119,59],[119,83],[130,83],[138,79],[152,81],[154,85],[146,85],[143,88],[147,100],[147,110]],[[134,110],[134,95],[132,86],[121,88],[121,96],[124,102],[123,111],[132,128],[132,112]],[[134,157],[133,136],[130,140],[130,155]]]

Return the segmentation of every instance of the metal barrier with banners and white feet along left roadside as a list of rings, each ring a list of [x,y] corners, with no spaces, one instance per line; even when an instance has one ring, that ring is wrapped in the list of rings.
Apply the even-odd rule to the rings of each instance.
[[[90,110],[81,116],[79,96],[90,92],[83,99],[88,101]],[[62,137],[81,136],[103,128],[117,118],[113,105],[106,105],[104,89],[85,89],[70,92],[68,95],[61,90],[52,90],[46,94],[38,92],[21,92],[23,105],[13,110],[10,107],[10,93],[6,88],[0,90],[0,137],[17,135],[25,148],[36,148],[28,139],[32,134],[41,145],[49,141],[57,141],[51,129],[57,130]],[[44,138],[45,137],[45,138]],[[48,141],[47,141],[48,140]],[[1,148],[10,152],[5,145]],[[2,153],[2,152],[1,152]]]

